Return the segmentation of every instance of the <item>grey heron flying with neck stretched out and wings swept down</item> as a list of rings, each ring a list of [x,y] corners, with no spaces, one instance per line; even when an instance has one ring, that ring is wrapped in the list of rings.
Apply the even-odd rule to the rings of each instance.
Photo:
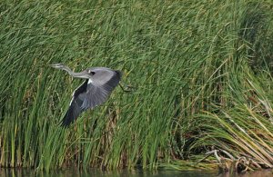
[[[122,75],[120,71],[106,67],[92,67],[83,72],[74,73],[64,64],[51,64],[51,66],[65,70],[73,77],[86,79],[73,93],[69,108],[61,123],[65,127],[73,123],[80,113],[105,103]]]

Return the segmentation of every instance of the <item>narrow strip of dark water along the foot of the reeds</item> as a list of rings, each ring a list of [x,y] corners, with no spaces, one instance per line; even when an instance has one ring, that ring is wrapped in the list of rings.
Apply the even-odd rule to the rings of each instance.
[[[97,176],[97,177],[229,177],[229,176],[238,176],[238,177],[270,177],[273,176],[272,171],[259,171],[259,172],[247,172],[244,174],[238,173],[218,173],[218,172],[204,172],[204,171],[190,171],[190,172],[180,172],[172,170],[160,170],[160,171],[119,171],[119,172],[102,172],[99,170],[66,170],[66,171],[52,171],[52,172],[35,172],[35,170],[25,170],[25,169],[1,169],[1,177],[23,177],[23,176],[42,176],[42,177],[51,177],[51,176]]]

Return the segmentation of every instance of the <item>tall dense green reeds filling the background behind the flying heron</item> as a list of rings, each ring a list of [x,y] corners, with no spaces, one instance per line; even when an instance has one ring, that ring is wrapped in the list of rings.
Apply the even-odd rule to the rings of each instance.
[[[272,8],[2,2],[0,165],[180,168],[215,148],[272,167]],[[48,66],[56,63],[121,70],[134,92],[117,88],[63,130],[58,123],[83,81]]]

